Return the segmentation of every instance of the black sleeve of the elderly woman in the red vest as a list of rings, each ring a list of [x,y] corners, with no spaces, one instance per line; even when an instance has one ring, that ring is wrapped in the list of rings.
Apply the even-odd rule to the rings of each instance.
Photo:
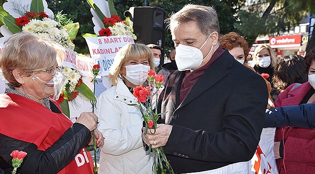
[[[13,150],[23,150],[27,156],[17,169],[22,174],[56,174],[63,169],[79,151],[90,142],[91,132],[82,124],[74,123],[45,151],[37,150],[35,144],[16,140],[0,134],[0,168],[4,173],[12,171]],[[9,173],[10,173],[9,172]]]

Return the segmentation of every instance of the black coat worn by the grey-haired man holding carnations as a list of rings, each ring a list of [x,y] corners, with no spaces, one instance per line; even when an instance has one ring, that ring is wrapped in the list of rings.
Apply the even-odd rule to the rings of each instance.
[[[268,102],[264,79],[225,50],[179,103],[185,72],[171,74],[158,107],[167,112],[162,122],[173,125],[164,152],[174,172],[207,171],[250,160]]]

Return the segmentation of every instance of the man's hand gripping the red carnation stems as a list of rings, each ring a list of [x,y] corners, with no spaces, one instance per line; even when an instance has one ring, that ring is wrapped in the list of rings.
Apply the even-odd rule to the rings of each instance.
[[[144,134],[145,128],[142,128],[142,139],[147,145],[152,145],[152,148],[164,146],[170,137],[173,126],[166,124],[157,124],[157,129],[148,129],[148,132]],[[154,134],[153,134],[154,133]]]

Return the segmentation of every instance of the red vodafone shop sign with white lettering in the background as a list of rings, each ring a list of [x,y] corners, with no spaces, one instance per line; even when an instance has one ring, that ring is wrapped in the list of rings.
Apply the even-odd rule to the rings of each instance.
[[[287,35],[287,36],[277,36],[270,37],[269,44],[270,46],[276,47],[279,46],[300,46],[302,35]]]

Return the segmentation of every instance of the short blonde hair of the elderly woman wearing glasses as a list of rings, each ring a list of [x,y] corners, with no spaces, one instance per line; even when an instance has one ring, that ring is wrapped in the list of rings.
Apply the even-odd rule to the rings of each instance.
[[[65,51],[59,44],[34,35],[18,32],[4,42],[0,54],[0,69],[3,77],[14,87],[21,84],[13,76],[13,70],[21,70],[30,76],[34,71],[50,69],[61,64]]]

